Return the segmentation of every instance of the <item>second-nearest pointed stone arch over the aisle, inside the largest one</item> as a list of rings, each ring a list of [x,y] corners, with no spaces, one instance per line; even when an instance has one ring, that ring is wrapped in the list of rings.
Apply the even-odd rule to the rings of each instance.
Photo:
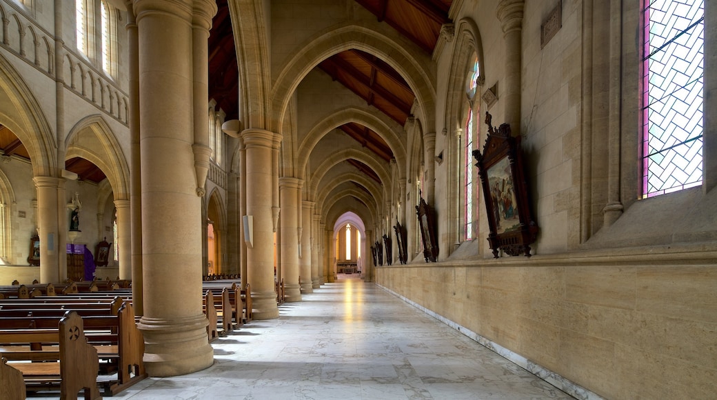
[[[369,110],[362,110],[361,108],[356,107],[348,107],[343,110],[337,110],[331,115],[326,116],[326,118],[323,118],[323,120],[320,120],[313,126],[313,128],[311,128],[299,145],[297,152],[298,156],[295,158],[295,162],[297,163],[296,171],[298,171],[300,175],[305,173],[306,163],[313,151],[313,148],[316,146],[316,143],[318,143],[321,138],[326,135],[326,133],[338,126],[350,122],[360,123],[361,125],[364,125],[378,133],[381,138],[386,141],[391,148],[391,151],[394,153],[399,170],[399,176],[405,176],[405,139],[402,140],[399,138],[399,135],[396,134],[397,131],[403,131],[403,129],[387,117],[380,118],[376,115],[376,113],[371,113]]]

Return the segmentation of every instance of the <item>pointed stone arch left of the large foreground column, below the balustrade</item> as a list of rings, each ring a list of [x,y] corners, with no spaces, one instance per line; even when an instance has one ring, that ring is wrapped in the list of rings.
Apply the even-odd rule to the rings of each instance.
[[[129,199],[129,167],[110,126],[98,115],[78,121],[65,139],[66,158],[82,157],[91,161],[107,176],[115,200]]]

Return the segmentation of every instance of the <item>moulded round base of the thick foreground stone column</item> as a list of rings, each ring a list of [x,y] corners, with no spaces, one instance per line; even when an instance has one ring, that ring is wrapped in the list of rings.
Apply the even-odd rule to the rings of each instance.
[[[201,371],[214,363],[204,314],[166,320],[142,317],[144,366],[149,376],[176,376]]]

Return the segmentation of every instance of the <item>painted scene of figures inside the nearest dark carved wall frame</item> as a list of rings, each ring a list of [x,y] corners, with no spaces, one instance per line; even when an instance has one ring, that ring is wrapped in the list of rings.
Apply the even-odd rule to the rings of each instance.
[[[495,233],[511,232],[520,229],[521,218],[518,215],[516,187],[513,184],[511,164],[503,158],[488,168],[490,199],[495,216]]]

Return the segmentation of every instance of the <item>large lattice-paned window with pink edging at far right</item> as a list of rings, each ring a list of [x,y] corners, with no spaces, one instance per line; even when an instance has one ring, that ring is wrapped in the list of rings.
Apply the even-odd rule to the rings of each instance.
[[[704,0],[645,1],[642,197],[702,184]]]

